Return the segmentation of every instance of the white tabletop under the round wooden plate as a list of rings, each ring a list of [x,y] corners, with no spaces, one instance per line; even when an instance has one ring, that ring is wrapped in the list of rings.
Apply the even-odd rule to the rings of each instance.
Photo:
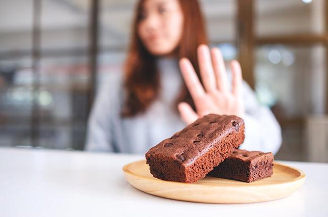
[[[303,170],[293,195],[253,204],[201,204],[145,194],[122,167],[140,155],[0,148],[0,216],[328,216],[328,164]]]

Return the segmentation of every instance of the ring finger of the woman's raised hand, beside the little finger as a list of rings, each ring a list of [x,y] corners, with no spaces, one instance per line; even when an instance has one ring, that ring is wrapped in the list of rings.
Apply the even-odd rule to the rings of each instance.
[[[228,76],[222,53],[218,48],[212,49],[212,61],[219,91],[228,92]]]

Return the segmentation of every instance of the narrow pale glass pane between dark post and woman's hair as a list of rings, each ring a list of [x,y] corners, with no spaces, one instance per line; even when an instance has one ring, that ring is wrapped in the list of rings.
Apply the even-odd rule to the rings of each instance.
[[[136,3],[134,0],[100,2],[101,52],[98,56],[97,84],[106,80],[109,73],[122,73]],[[97,88],[99,86],[97,85]]]

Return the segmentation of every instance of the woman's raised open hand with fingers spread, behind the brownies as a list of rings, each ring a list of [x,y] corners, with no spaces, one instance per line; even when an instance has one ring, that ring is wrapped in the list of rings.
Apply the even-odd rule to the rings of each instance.
[[[193,111],[186,102],[178,104],[183,121],[190,124],[207,114],[243,117],[245,108],[242,98],[243,78],[240,64],[235,60],[230,63],[232,72],[230,91],[220,50],[213,48],[210,53],[208,46],[200,45],[197,49],[197,56],[204,87],[190,61],[187,58],[180,60],[182,75],[196,107],[196,111]]]

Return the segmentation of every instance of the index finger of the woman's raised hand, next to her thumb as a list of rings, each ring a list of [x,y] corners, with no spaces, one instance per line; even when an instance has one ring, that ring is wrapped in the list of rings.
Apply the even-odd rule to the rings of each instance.
[[[205,91],[197,77],[197,74],[187,58],[180,60],[180,69],[186,86],[194,102],[205,94]]]

